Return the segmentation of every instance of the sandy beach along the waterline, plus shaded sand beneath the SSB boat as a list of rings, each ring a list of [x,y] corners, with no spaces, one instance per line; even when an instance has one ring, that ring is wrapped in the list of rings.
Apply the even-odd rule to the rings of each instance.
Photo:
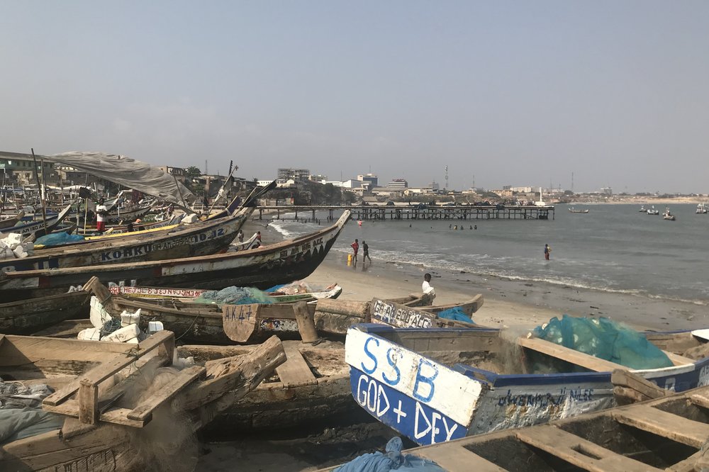
[[[245,235],[260,230],[264,244],[281,240],[281,235],[261,222],[245,225]],[[376,256],[372,262],[347,264],[350,241],[338,240],[323,264],[306,279],[313,287],[337,282],[342,300],[393,298],[421,290],[423,266],[393,264]],[[350,250],[351,251],[351,250]],[[359,257],[362,257],[360,252]],[[524,332],[564,313],[574,316],[605,316],[638,330],[682,330],[705,327],[707,307],[679,301],[659,300],[627,293],[584,290],[547,283],[525,283],[500,278],[484,278],[452,271],[430,271],[437,296],[435,304],[467,300],[478,293],[484,305],[473,315],[479,325]],[[367,417],[365,417],[367,418]],[[313,471],[356,456],[357,452],[383,449],[393,430],[378,422],[350,427],[330,427],[303,432],[302,437],[250,437],[228,442],[203,442],[199,468],[225,471],[235,460],[241,471]],[[413,446],[413,444],[409,444]],[[337,455],[339,454],[339,455]]]

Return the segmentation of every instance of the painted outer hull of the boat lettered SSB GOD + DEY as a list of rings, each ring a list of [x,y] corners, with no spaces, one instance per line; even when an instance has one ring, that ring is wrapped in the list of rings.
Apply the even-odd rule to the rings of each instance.
[[[450,369],[374,334],[379,327],[368,329],[347,332],[352,396],[370,415],[420,445],[616,406],[610,372],[499,375],[463,364]],[[709,384],[709,358],[633,372],[661,388],[683,391]]]

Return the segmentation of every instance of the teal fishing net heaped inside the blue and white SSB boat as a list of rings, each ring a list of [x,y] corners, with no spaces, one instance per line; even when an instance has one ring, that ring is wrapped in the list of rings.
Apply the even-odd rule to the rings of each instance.
[[[630,369],[672,366],[669,357],[640,332],[608,318],[574,318],[564,315],[537,326],[535,337],[569,347]]]

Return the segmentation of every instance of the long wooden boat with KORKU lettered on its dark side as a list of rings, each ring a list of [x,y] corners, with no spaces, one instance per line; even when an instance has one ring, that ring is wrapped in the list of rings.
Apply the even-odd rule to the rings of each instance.
[[[230,216],[155,232],[138,232],[72,245],[45,247],[22,259],[0,261],[2,271],[31,271],[192,257],[225,250],[254,207],[230,206]]]

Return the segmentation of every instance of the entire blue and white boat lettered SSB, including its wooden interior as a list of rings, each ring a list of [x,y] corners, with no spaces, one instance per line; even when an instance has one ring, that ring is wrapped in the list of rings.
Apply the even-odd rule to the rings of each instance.
[[[674,344],[683,352],[703,342],[690,332],[647,338],[667,351]],[[500,330],[488,328],[355,325],[345,343],[352,396],[370,415],[420,445],[616,406],[611,371],[627,368],[568,349],[575,357],[564,353],[566,361],[578,361],[570,370],[584,366],[586,371],[526,373],[530,351],[554,356],[566,348],[524,339],[506,340]],[[677,392],[709,384],[709,358],[669,354],[669,359],[673,366],[632,372]]]

